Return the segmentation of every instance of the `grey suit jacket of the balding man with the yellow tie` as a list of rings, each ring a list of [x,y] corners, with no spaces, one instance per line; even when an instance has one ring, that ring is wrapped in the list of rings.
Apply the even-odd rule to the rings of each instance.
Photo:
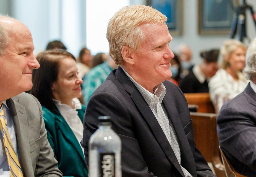
[[[30,94],[21,93],[6,103],[13,117],[23,175],[62,176],[47,140],[38,100]]]

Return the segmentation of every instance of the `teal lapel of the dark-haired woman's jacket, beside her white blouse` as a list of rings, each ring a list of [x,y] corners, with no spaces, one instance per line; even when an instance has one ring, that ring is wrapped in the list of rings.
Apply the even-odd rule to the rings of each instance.
[[[79,112],[79,111],[78,111]],[[85,156],[83,155],[83,151],[82,148],[80,146],[80,144],[77,141],[77,138],[75,137],[73,131],[71,130],[71,128],[69,127],[69,125],[67,124],[66,120],[62,117],[61,113],[58,111],[58,114],[56,114],[57,118],[58,118],[58,127],[59,129],[62,131],[63,136],[65,136],[67,138],[67,140],[69,141],[69,143],[75,148],[75,150],[77,151],[77,153],[79,154],[79,156],[83,159],[83,161],[85,162]],[[81,117],[79,117],[81,119]],[[82,120],[82,119],[81,119]],[[83,122],[83,121],[82,121]]]

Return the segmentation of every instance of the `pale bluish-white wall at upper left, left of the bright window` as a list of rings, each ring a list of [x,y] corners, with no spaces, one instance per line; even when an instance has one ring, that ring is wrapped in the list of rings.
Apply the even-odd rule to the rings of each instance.
[[[84,0],[0,0],[0,13],[23,22],[31,31],[37,54],[52,40],[61,40],[77,55],[86,43]],[[84,18],[81,18],[84,17]],[[70,19],[71,18],[71,19]]]

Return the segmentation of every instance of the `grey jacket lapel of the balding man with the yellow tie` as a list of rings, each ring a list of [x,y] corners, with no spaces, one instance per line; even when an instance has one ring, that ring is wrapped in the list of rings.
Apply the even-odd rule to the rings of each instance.
[[[25,108],[18,103],[16,98],[10,98],[6,100],[10,109],[16,132],[16,138],[18,142],[19,153],[21,156],[20,162],[23,168],[24,176],[33,176],[29,172],[33,172],[32,162],[30,157],[29,139],[27,137],[27,114]]]

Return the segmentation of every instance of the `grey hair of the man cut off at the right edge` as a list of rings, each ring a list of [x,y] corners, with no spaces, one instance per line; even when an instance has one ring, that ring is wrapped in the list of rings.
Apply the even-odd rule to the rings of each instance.
[[[251,81],[256,79],[256,38],[251,42],[246,52],[246,66],[243,73]]]

